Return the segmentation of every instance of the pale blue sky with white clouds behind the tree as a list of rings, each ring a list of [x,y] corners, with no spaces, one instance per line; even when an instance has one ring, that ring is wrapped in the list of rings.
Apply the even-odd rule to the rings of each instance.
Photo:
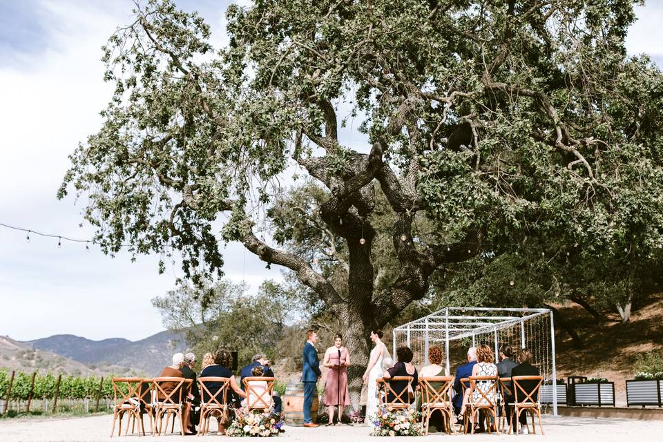
[[[224,44],[224,11],[230,1],[179,0],[210,24],[212,41]],[[100,47],[115,27],[131,19],[131,0],[0,0],[0,222],[90,238],[75,198],[55,194],[68,155],[101,122],[111,97],[104,84]],[[663,66],[663,0],[637,8],[628,34],[631,53],[645,52]],[[343,133],[341,134],[344,135]],[[349,129],[345,136],[350,137]],[[348,140],[356,142],[357,140]],[[175,287],[177,266],[157,272],[158,256],[115,258],[95,246],[43,238],[0,227],[0,335],[32,340],[76,334],[100,340],[146,338],[160,332],[151,299]],[[227,278],[255,289],[280,280],[278,266],[231,243],[224,250]]]

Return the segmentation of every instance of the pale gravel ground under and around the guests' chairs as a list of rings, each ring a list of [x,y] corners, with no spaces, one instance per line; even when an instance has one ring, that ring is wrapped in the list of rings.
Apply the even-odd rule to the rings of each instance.
[[[109,437],[111,433],[111,416],[94,416],[76,419],[50,419],[50,420],[12,420],[3,419],[0,421],[0,441],[1,442],[77,442],[77,441],[140,441],[155,440],[151,436],[139,437],[122,436],[113,439]],[[213,427],[213,424],[212,424]],[[117,432],[117,427],[115,428]],[[600,441],[600,442],[648,442],[660,440],[660,434],[663,434],[663,421],[632,421],[627,419],[594,419],[594,418],[576,418],[576,417],[553,417],[544,416],[544,431],[546,441]],[[354,426],[349,427],[286,427],[286,432],[280,435],[280,439],[300,442],[376,442],[379,439],[369,436],[369,427]],[[116,433],[117,434],[117,433]],[[656,436],[659,434],[659,436]],[[445,436],[440,434],[430,434],[425,437],[425,441],[449,440],[454,441],[512,441],[522,440],[523,438],[537,439],[541,436],[509,436],[507,434],[474,434],[474,435],[454,435]],[[415,438],[399,438],[415,439]],[[229,441],[227,436],[207,435],[204,438],[182,437],[179,434],[169,434],[161,436],[157,440],[165,442],[177,441],[201,441],[201,440],[219,440]]]

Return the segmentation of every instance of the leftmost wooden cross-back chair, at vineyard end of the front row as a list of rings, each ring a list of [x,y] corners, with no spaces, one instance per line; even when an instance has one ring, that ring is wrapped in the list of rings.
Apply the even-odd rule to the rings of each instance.
[[[129,421],[133,418],[133,424],[136,420],[139,421],[138,435],[140,430],[143,430],[145,435],[145,423],[143,420],[143,412],[147,412],[150,416],[150,433],[154,434],[154,424],[152,416],[151,404],[151,379],[145,378],[113,378],[113,427],[111,428],[111,437],[115,432],[115,421],[119,421],[117,427],[117,436],[122,435],[122,417],[128,414],[128,421],[126,423],[125,434],[129,430]],[[142,385],[147,383],[147,388],[142,388]],[[132,431],[133,433],[133,428]]]

